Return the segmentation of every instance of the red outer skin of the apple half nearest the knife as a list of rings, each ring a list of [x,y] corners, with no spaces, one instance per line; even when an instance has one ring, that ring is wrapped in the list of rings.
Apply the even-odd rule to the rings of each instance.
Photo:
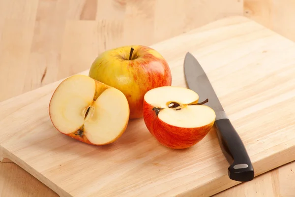
[[[180,128],[161,121],[152,110],[154,106],[143,103],[144,121],[148,131],[164,146],[172,149],[189,148],[202,140],[211,130],[214,121],[201,128]]]

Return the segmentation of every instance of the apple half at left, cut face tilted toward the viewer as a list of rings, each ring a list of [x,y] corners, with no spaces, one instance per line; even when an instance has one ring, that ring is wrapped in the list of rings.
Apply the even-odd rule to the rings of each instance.
[[[116,141],[126,130],[129,105],[118,89],[77,74],[59,84],[50,100],[49,115],[61,133],[104,145]]]

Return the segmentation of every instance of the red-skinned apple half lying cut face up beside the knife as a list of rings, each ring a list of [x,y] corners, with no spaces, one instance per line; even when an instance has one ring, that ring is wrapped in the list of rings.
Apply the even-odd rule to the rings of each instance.
[[[175,86],[149,90],[144,97],[143,113],[148,131],[164,146],[191,147],[213,127],[215,112],[202,103],[194,91]]]

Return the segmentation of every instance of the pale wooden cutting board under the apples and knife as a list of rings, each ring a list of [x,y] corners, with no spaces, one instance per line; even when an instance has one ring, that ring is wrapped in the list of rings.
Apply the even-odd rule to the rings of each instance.
[[[168,61],[174,86],[185,87],[186,52],[198,59],[256,176],[295,160],[295,43],[230,17],[151,47]],[[60,82],[0,103],[0,160],[20,165],[60,196],[197,197],[239,184],[228,178],[215,128],[186,150],[160,145],[143,119],[101,147],[60,134],[48,115]]]

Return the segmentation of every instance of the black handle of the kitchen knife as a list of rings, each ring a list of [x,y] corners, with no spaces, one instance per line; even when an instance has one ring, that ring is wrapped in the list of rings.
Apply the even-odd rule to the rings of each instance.
[[[228,162],[230,179],[236,181],[251,181],[254,169],[245,146],[229,119],[215,121],[220,147]]]

